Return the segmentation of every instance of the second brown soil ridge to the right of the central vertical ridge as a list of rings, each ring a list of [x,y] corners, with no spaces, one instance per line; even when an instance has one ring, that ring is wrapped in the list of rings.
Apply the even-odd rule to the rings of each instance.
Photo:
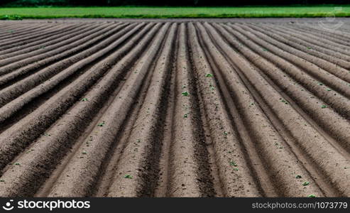
[[[207,25],[209,29],[210,26]],[[214,31],[211,31],[213,33],[213,37],[217,41],[220,48],[223,48],[226,46],[223,40],[218,39],[219,35],[215,33]],[[202,35],[206,35],[206,33],[202,33]],[[207,42],[209,45],[210,43]],[[209,48],[210,47],[210,48]],[[209,46],[207,49],[214,49],[213,44]],[[224,51],[224,50],[222,50]],[[229,53],[230,50],[226,49],[224,53]],[[216,53],[217,57],[221,56],[219,53]],[[310,179],[310,176],[307,175],[307,171],[302,168],[301,165],[298,163],[298,159],[295,157],[295,155],[291,154],[291,151],[289,150],[288,146],[286,146],[286,143],[284,139],[278,135],[278,132],[274,128],[273,125],[270,124],[266,116],[264,116],[263,111],[261,111],[260,107],[256,106],[258,105],[256,101],[253,99],[253,97],[249,97],[248,94],[256,93],[256,91],[252,91],[253,87],[248,87],[249,90],[245,87],[242,87],[241,85],[244,85],[244,82],[240,80],[240,77],[242,75],[236,75],[235,72],[232,72],[230,70],[229,65],[227,62],[224,61],[223,58],[216,60],[217,62],[220,61],[219,65],[225,65],[226,67],[221,67],[220,70],[227,70],[226,73],[224,72],[224,76],[232,76],[231,81],[226,82],[236,82],[236,85],[239,85],[240,87],[234,87],[235,84],[229,84],[229,91],[231,95],[234,96],[234,103],[237,105],[236,114],[243,115],[244,117],[240,118],[239,116],[235,116],[234,121],[236,122],[236,125],[239,126],[239,123],[241,127],[239,129],[240,133],[245,133],[244,139],[251,138],[250,143],[256,144],[258,146],[258,155],[261,156],[263,160],[261,165],[264,167],[264,165],[268,165],[268,176],[270,179],[277,180],[273,183],[267,182],[265,186],[271,187],[271,185],[275,185],[275,190],[277,190],[280,196],[287,196],[292,197],[293,195],[300,195],[302,197],[310,195],[312,193],[322,195],[321,192],[317,189],[317,187],[303,187],[302,186],[302,180],[298,180],[295,178],[296,174],[302,174],[302,177],[305,177],[305,179]],[[239,67],[234,69],[238,72],[241,72]],[[229,72],[231,71],[231,72]],[[240,73],[241,74],[241,73]],[[240,91],[242,94],[237,95],[234,94],[236,91]],[[226,98],[227,99],[227,98]],[[230,104],[231,105],[231,104]],[[233,107],[232,107],[233,108]],[[238,124],[237,124],[238,123]],[[244,129],[244,127],[246,129]],[[242,128],[243,127],[243,128]],[[264,131],[261,131],[261,129],[264,129]],[[247,132],[250,132],[248,134]],[[246,142],[247,143],[247,142]],[[249,143],[249,142],[248,142]],[[250,144],[251,146],[251,144]],[[249,151],[253,150],[253,147],[248,148]],[[278,159],[284,158],[284,161],[279,161]],[[295,162],[295,163],[291,163]],[[284,169],[281,169],[284,168]],[[283,172],[281,172],[283,170]],[[264,171],[266,173],[266,171]],[[263,174],[266,176],[266,174]],[[259,180],[266,180],[264,179],[266,177],[258,178]],[[288,187],[292,186],[293,187]],[[297,187],[298,186],[298,187]],[[273,193],[273,189],[267,188],[265,190],[266,192]],[[271,194],[269,195],[266,193],[268,197],[271,197]]]

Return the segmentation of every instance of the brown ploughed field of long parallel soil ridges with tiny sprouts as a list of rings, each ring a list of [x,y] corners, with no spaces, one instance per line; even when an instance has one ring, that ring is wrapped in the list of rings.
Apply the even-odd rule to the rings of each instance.
[[[0,23],[0,197],[349,197],[350,26]]]

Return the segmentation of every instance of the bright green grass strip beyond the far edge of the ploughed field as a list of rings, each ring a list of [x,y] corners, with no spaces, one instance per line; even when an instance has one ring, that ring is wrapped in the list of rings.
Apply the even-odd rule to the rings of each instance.
[[[0,19],[22,18],[267,18],[267,17],[347,17],[350,5],[341,6],[241,6],[241,7],[4,7]]]

